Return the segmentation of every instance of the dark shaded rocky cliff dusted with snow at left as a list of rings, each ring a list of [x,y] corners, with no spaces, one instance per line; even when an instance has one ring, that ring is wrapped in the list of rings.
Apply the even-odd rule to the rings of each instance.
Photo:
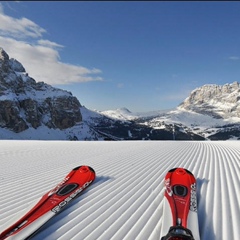
[[[70,92],[36,82],[0,48],[0,127],[66,129],[82,121],[81,104]]]

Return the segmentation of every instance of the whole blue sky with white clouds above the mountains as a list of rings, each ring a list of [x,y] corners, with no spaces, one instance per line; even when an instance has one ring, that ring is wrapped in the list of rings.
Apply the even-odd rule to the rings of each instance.
[[[89,109],[174,108],[240,81],[240,2],[7,1],[0,47]]]

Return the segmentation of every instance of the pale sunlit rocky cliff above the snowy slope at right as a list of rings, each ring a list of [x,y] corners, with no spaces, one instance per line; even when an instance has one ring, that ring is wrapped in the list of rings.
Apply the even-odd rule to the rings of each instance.
[[[179,107],[215,118],[240,117],[240,84],[204,85],[192,91]]]

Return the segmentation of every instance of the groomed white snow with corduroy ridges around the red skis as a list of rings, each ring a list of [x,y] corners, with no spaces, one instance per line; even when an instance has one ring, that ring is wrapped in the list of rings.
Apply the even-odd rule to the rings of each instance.
[[[239,239],[239,141],[0,141],[0,157],[0,228],[90,165],[94,183],[33,239],[159,240],[164,176],[184,167],[197,178],[201,239]]]

